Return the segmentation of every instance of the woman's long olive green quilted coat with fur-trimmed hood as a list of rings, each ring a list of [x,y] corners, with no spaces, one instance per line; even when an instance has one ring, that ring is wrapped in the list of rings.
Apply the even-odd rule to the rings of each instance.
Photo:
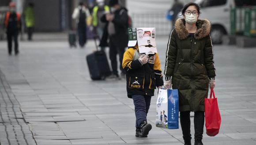
[[[166,51],[164,74],[172,76],[173,89],[179,91],[180,111],[204,111],[209,78],[215,78],[211,24],[208,20],[196,22],[197,31],[190,35],[185,20],[178,19],[170,34]]]

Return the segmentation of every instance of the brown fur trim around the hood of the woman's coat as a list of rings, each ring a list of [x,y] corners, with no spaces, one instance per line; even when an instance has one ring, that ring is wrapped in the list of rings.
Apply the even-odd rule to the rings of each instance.
[[[211,32],[211,23],[207,19],[198,19],[196,22],[197,30],[195,33],[196,40],[208,36]],[[184,40],[189,36],[188,30],[185,27],[184,18],[179,18],[175,22],[175,30],[179,39]]]

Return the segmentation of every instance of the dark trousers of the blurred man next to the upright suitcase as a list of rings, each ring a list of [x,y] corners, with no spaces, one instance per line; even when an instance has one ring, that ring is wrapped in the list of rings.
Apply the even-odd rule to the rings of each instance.
[[[119,47],[117,43],[114,42],[113,38],[110,37],[109,39],[109,58],[111,61],[112,72],[115,75],[118,75],[117,71],[117,54],[119,55],[119,62],[120,62],[120,71],[125,73],[122,63],[124,57],[125,47]]]

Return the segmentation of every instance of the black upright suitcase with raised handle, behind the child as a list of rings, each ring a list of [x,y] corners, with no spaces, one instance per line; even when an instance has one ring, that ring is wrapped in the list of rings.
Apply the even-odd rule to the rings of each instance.
[[[104,80],[107,76],[111,74],[109,62],[105,51],[98,50],[96,37],[94,37],[94,41],[97,51],[87,55],[86,57],[88,69],[90,72],[90,78],[92,80]]]

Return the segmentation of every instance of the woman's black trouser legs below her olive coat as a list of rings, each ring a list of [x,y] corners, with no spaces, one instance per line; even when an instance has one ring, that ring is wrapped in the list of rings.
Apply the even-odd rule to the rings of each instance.
[[[184,140],[191,139],[190,134],[190,111],[180,112],[181,129]],[[203,138],[204,112],[197,111],[194,116],[195,139]]]

